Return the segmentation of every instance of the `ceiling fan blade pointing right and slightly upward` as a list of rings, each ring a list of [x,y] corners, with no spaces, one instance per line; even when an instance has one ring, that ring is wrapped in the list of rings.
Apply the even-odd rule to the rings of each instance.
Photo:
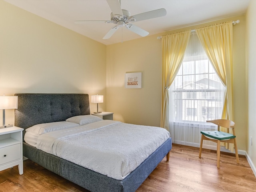
[[[137,21],[142,21],[142,20],[152,19],[152,18],[157,18],[162,16],[166,16],[166,10],[164,8],[133,15],[133,16],[130,16],[129,19],[135,18],[135,21],[137,22]]]

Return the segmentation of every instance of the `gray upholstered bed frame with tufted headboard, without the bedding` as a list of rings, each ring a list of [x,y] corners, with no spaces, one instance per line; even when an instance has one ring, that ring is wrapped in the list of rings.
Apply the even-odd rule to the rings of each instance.
[[[88,94],[15,94],[15,96],[18,96],[15,126],[24,128],[23,138],[25,130],[34,125],[90,115]],[[38,150],[23,141],[25,157],[92,192],[136,191],[165,156],[169,160],[171,148],[172,138],[168,138],[135,170],[120,180]]]

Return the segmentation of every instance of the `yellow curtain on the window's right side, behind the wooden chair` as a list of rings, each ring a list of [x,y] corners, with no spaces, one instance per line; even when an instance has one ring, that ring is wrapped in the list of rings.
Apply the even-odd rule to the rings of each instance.
[[[222,119],[233,120],[232,47],[233,22],[224,22],[196,29],[213,68],[225,86]],[[226,130],[222,130],[226,131]],[[226,144],[233,151],[234,146]]]

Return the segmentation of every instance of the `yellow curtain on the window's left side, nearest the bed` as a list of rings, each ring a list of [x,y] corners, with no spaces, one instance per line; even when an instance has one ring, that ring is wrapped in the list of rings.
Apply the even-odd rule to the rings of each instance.
[[[162,36],[162,110],[161,127],[169,130],[169,93],[190,38],[190,30]]]

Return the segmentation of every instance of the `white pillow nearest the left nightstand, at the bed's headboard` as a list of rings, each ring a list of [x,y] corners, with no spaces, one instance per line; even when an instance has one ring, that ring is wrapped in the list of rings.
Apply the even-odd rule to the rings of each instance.
[[[62,130],[62,129],[78,127],[78,126],[80,125],[77,123],[59,121],[59,122],[37,124],[30,128],[27,128],[26,131],[41,135],[51,131]]]

